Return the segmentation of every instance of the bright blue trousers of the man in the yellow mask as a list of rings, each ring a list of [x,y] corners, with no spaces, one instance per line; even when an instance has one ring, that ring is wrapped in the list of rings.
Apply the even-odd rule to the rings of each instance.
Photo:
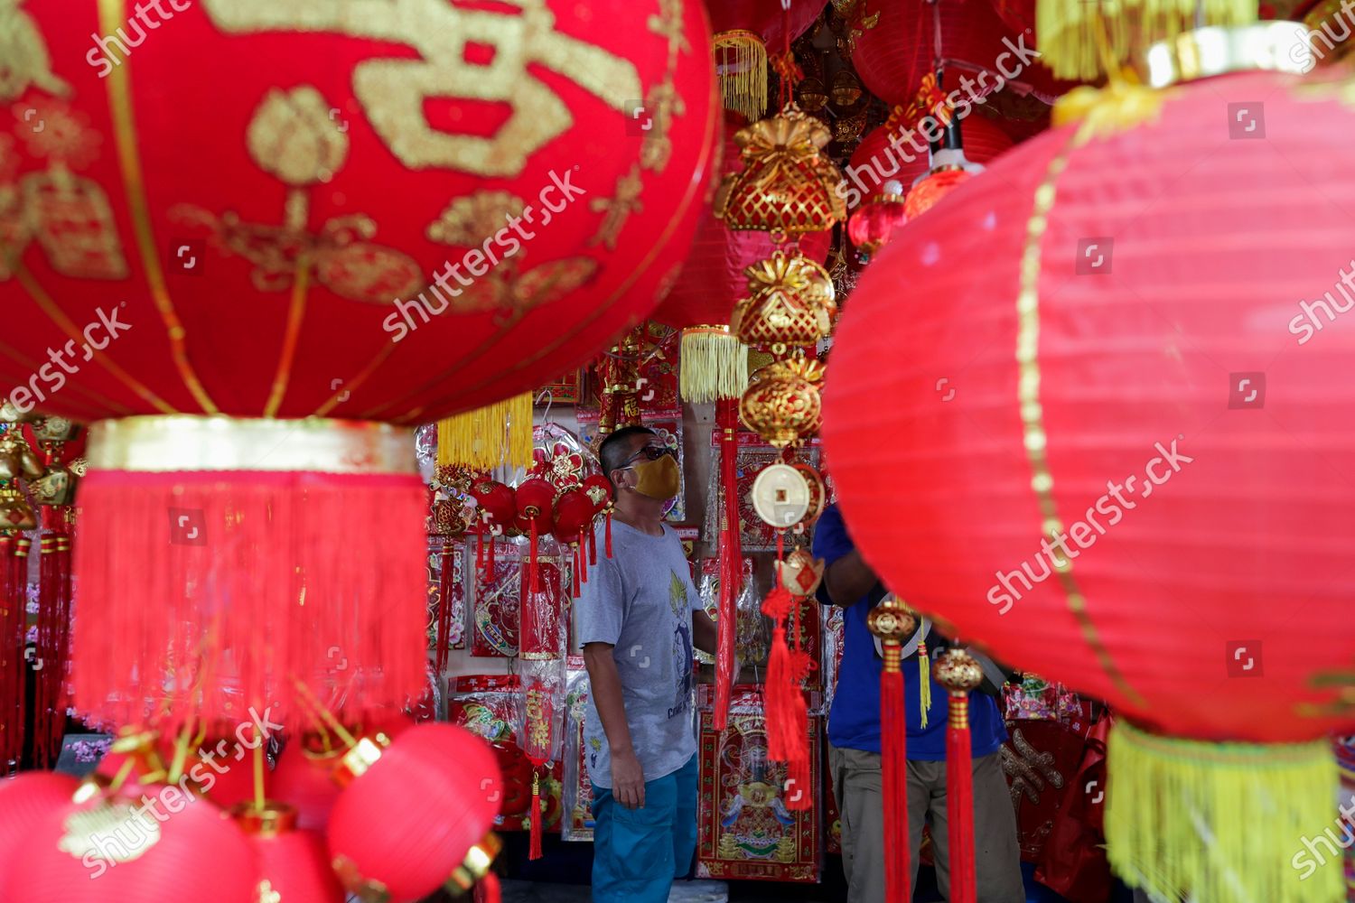
[[[696,853],[696,757],[645,781],[645,806],[627,810],[593,784],[593,903],[667,903]]]

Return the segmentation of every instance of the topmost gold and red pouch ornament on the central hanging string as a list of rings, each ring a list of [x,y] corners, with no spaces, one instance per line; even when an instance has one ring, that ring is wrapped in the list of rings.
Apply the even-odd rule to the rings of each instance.
[[[847,218],[843,175],[822,153],[828,127],[794,103],[734,134],[744,168],[725,176],[715,215],[734,230],[822,232]]]

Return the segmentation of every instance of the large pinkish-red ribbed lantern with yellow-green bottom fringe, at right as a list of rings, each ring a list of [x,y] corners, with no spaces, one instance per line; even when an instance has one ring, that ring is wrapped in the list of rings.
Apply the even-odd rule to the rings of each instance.
[[[837,332],[854,539],[950,635],[1133,722],[1111,860],[1164,896],[1339,899],[1339,865],[1301,885],[1290,857],[1331,819],[1318,738],[1355,727],[1343,91],[1103,104],[908,223]]]

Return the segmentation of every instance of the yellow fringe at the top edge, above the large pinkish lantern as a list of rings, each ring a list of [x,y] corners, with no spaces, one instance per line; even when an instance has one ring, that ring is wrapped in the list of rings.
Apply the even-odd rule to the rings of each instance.
[[[1035,7],[1041,62],[1073,81],[1112,74],[1107,65],[1191,28],[1253,22],[1255,0],[1039,0]]]

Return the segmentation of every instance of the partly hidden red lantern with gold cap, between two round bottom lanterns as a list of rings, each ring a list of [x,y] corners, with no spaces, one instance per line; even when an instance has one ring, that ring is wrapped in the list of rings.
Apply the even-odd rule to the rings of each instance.
[[[343,903],[346,894],[329,868],[325,839],[298,826],[297,810],[245,806],[232,816],[253,846],[257,900],[275,903]]]

